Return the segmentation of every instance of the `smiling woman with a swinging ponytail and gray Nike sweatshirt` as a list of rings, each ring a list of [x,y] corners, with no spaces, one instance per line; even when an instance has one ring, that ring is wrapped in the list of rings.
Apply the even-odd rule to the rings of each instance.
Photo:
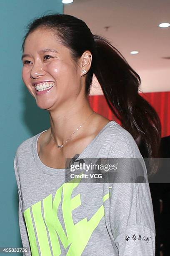
[[[66,159],[143,159],[139,136],[148,157],[157,156],[160,121],[138,94],[138,74],[71,15],[34,20],[22,59],[23,81],[50,115],[50,128],[21,143],[14,160],[20,233],[31,250],[25,255],[155,255],[150,190],[134,182],[133,164],[120,163],[113,182],[65,179]],[[90,107],[93,74],[122,126]],[[147,180],[143,161],[141,166]]]

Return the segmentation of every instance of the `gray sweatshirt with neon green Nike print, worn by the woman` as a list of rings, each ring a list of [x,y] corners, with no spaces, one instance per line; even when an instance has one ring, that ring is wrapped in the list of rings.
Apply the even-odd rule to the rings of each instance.
[[[155,256],[146,166],[131,134],[112,120],[75,158],[140,159],[145,183],[134,182],[139,175],[132,161],[120,163],[107,182],[81,182],[76,175],[75,182],[66,181],[70,169],[54,169],[40,160],[41,133],[21,143],[14,159],[20,235],[30,250],[23,255]]]

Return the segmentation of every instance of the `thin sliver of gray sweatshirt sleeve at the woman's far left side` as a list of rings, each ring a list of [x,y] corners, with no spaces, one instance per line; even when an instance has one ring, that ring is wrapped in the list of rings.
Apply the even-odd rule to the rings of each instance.
[[[20,227],[20,236],[23,243],[23,247],[28,247],[29,251],[26,253],[23,253],[23,256],[31,256],[31,250],[30,250],[30,243],[28,239],[28,233],[25,225],[25,220],[23,217],[23,202],[22,202],[22,196],[21,196],[21,187],[20,187],[20,178],[19,178],[19,172],[18,172],[18,164],[17,164],[17,158],[15,156],[14,159],[14,170],[15,170],[15,177],[17,181],[18,186],[18,220],[19,220],[19,227]]]

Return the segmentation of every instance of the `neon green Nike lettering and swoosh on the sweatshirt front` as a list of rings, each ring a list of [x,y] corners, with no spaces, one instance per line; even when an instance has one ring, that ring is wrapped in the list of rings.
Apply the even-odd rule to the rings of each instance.
[[[53,202],[52,194],[50,194],[43,199],[43,202],[39,201],[24,211],[24,218],[28,230],[32,256],[39,256],[35,230],[37,233],[41,256],[52,256],[52,253],[55,256],[61,255],[62,252],[58,238],[60,238],[60,241],[65,249],[70,246],[67,251],[67,256],[80,256],[84,251],[92,232],[95,230],[97,225],[100,223],[100,220],[104,216],[104,206],[101,205],[89,221],[87,221],[87,218],[84,218],[78,223],[74,224],[72,219],[72,211],[81,205],[80,194],[71,198],[73,189],[80,184],[80,179],[74,180],[76,183],[73,183],[71,180],[71,182],[66,182],[62,184],[59,189],[57,189]],[[62,199],[62,193],[62,215],[66,233],[57,216],[58,207]],[[109,193],[103,197],[103,202],[105,202],[105,200],[108,198]],[[44,218],[42,215],[42,206]],[[33,214],[35,230],[30,208]],[[49,233],[49,238],[47,236],[47,230]],[[50,244],[52,247],[52,253]]]

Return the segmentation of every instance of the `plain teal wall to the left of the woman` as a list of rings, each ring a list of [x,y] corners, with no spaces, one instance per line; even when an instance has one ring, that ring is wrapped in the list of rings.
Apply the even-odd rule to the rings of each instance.
[[[22,82],[20,59],[26,25],[51,12],[63,13],[62,0],[0,0],[0,247],[22,246],[15,151],[20,143],[50,125],[47,112],[37,107]]]

